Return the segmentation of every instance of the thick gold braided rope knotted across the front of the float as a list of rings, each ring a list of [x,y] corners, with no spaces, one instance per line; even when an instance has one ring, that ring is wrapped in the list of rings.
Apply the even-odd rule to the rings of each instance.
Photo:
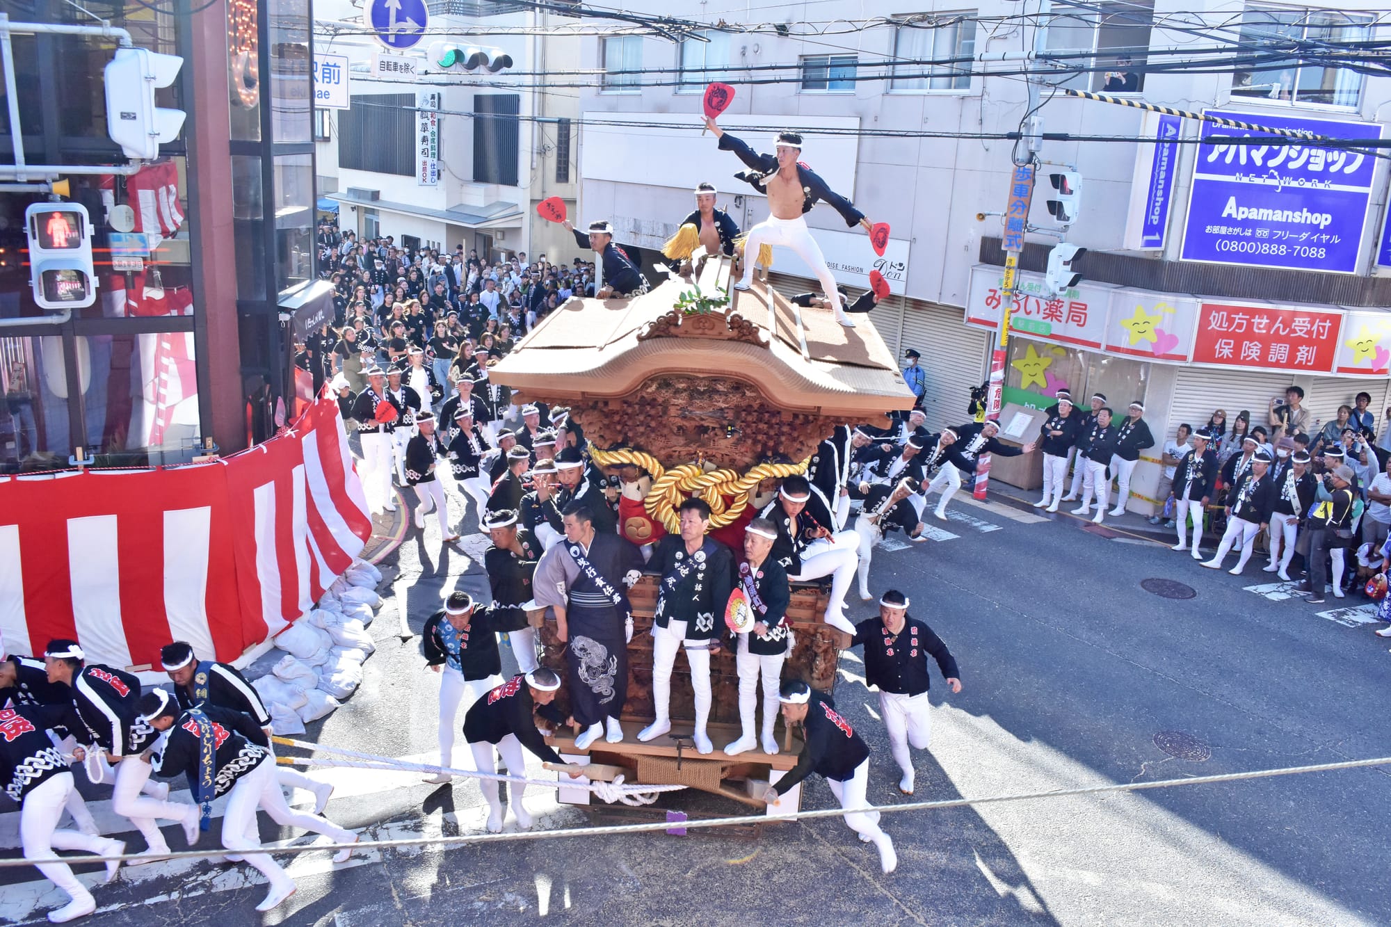
[[[672,469],[664,468],[657,458],[643,451],[619,448],[601,451],[590,448],[590,458],[600,466],[633,464],[652,475],[652,489],[647,493],[643,507],[647,514],[670,533],[680,530],[676,507],[687,497],[700,496],[709,504],[711,528],[733,525],[748,508],[748,491],[771,477],[805,473],[811,464],[808,457],[801,464],[759,464],[740,476],[736,470],[718,469],[705,472],[698,464],[682,464]],[[726,502],[725,497],[733,497]]]

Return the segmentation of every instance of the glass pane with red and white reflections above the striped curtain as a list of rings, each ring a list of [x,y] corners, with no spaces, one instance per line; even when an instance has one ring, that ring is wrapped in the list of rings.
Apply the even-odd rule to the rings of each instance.
[[[192,331],[79,337],[88,447],[100,466],[181,464],[199,452]]]

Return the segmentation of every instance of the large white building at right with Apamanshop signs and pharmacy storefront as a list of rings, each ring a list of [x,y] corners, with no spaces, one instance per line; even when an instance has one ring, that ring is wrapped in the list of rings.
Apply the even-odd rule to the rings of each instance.
[[[732,81],[736,96],[722,127],[765,152],[772,150],[778,128],[803,131],[803,160],[853,196],[872,221],[890,224],[883,270],[896,295],[871,319],[890,348],[922,352],[928,425],[967,420],[968,387],[989,370],[999,319],[999,213],[1010,193],[1015,143],[997,135],[1020,128],[1027,88],[1017,74],[979,75],[982,68],[1017,71],[1017,61],[976,64],[976,74],[971,65],[943,61],[1031,49],[1034,19],[1018,15],[1035,13],[1035,4],[963,8],[926,1],[906,8],[865,0],[855,6],[854,19],[807,39],[797,33],[821,31],[815,21],[850,14],[811,3],[747,14],[727,4],[679,14],[655,0],[627,6],[711,22],[768,19],[787,35],[711,31],[709,42],[680,45],[655,38],[587,39],[581,67],[611,74],[580,100],[584,217],[611,217],[619,241],[657,248],[693,207],[696,182],[708,180],[743,228],[762,220],[764,198],[732,177],[743,166],[716,150],[714,138],[691,131],[700,125],[705,84]],[[1129,99],[1238,111],[1248,114],[1245,121],[1277,128],[1376,138],[1391,111],[1387,78],[1321,64],[1253,71],[1227,63],[1220,74],[1161,70],[1199,58],[1212,67],[1213,60],[1230,57],[1221,46],[1262,50],[1276,36],[1367,39],[1373,15],[1355,10],[1373,4],[1356,0],[1351,7],[1054,1],[1046,47],[1074,54],[1068,60],[1084,67],[1095,60],[1097,70],[1059,70],[1049,82],[1085,90],[1110,84]],[[1203,14],[1206,28],[1195,26],[1196,15],[1166,13],[1205,8],[1210,10]],[[849,31],[875,17],[896,22]],[[1086,57],[1093,53],[1095,58]],[[1118,61],[1121,54],[1131,63]],[[935,64],[906,64],[914,61]],[[620,74],[625,70],[644,72]],[[875,75],[886,79],[865,79]],[[762,82],[740,82],[748,79]],[[1195,120],[1161,125],[1139,110],[1061,92],[1045,90],[1045,99],[1047,134],[1136,139],[1177,128],[1182,142],[1199,132],[1223,132]],[[645,127],[627,128],[623,121]],[[836,134],[846,129],[860,134]],[[1366,390],[1384,426],[1391,313],[1381,306],[1391,303],[1391,283],[1376,263],[1381,251],[1391,263],[1391,249],[1381,246],[1384,159],[1317,148],[1052,139],[1039,156],[1057,164],[1040,167],[1031,221],[1054,227],[1042,202],[1054,195],[1046,175],[1075,166],[1084,178],[1082,207],[1068,241],[1091,253],[1079,263],[1084,283],[1061,299],[1040,298],[1040,274],[1025,274],[1029,295],[1011,328],[1006,402],[1040,408],[1053,402],[1060,386],[1082,402],[1104,393],[1117,415],[1141,399],[1161,445],[1180,422],[1202,426],[1219,406],[1228,422],[1249,409],[1252,423],[1264,425],[1271,397],[1299,384],[1306,405],[1326,422],[1340,404]],[[1195,166],[1203,177],[1189,219]],[[1255,182],[1255,175],[1284,182]],[[997,214],[978,219],[990,212]],[[1148,225],[1145,216],[1152,217]],[[865,287],[876,258],[864,232],[847,230],[823,205],[807,219],[837,277]],[[1029,234],[1021,266],[1042,270],[1056,241]],[[815,288],[790,253],[778,252],[773,271],[780,288]],[[1138,511],[1153,504],[1148,497],[1156,489],[1157,455],[1159,447],[1148,451],[1136,470],[1134,489],[1141,498],[1132,497],[1131,505]]]

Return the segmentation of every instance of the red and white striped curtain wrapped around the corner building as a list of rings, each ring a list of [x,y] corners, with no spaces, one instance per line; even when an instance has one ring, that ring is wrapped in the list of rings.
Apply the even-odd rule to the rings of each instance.
[[[303,615],[371,533],[334,399],[216,464],[0,479],[0,643],[117,667],[234,660]]]

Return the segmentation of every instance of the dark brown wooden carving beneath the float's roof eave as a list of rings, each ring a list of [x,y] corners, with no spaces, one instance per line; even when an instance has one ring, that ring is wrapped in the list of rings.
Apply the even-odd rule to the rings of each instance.
[[[630,447],[659,461],[714,461],[740,470],[803,461],[840,422],[778,409],[741,377],[662,373],[622,401],[579,401],[570,415],[597,447]]]

